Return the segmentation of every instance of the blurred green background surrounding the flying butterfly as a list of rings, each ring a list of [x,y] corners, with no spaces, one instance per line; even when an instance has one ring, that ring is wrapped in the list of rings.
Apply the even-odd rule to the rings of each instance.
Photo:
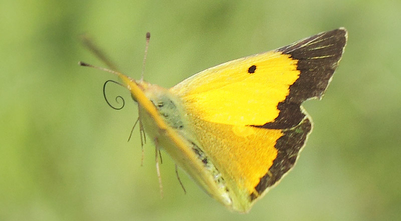
[[[0,220],[399,220],[401,1],[6,1],[0,8]],[[139,132],[126,90],[104,101],[109,73],[79,41],[88,33],[139,78],[169,87],[224,61],[345,26],[348,44],[294,170],[248,214],[228,211]]]

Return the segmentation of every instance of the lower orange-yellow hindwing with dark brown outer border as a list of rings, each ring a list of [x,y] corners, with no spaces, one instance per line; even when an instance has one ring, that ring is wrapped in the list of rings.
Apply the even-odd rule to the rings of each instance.
[[[224,178],[232,202],[227,206],[240,212],[248,211],[293,167],[312,128],[307,117],[289,129],[191,120],[204,158]]]

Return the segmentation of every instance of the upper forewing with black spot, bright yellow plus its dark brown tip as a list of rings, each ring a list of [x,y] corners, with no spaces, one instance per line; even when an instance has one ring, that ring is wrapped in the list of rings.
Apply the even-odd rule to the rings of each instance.
[[[341,58],[345,35],[340,28],[232,60],[188,77],[170,91],[189,112],[211,122],[263,125],[278,117],[278,105],[286,98],[286,104],[294,105],[292,114],[299,114],[302,101],[323,94]]]

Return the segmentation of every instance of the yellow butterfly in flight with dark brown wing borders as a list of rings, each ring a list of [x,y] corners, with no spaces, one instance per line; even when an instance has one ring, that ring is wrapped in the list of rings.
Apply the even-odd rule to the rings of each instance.
[[[323,96],[346,41],[345,28],[322,32],[168,89],[112,72],[156,149],[222,204],[247,212],[294,166],[312,129],[301,103]]]

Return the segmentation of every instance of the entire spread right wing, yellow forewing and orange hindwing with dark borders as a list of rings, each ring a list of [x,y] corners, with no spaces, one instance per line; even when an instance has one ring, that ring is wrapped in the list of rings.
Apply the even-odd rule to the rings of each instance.
[[[322,97],[346,38],[344,28],[323,32],[209,68],[170,88],[196,145],[222,174],[235,210],[249,210],[295,164],[312,129],[301,103]]]

